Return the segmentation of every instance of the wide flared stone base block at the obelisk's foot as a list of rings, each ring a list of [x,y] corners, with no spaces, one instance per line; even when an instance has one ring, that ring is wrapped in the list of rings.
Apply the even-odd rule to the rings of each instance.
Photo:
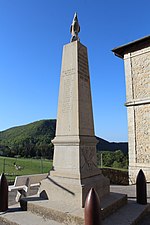
[[[94,187],[100,198],[110,192],[109,179],[102,174],[85,179],[49,176],[41,181],[40,196],[77,208],[84,207],[89,190]]]

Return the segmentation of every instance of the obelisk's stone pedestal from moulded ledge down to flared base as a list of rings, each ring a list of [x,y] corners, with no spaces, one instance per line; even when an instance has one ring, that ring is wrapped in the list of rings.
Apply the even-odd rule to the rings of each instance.
[[[41,197],[81,208],[92,187],[100,198],[109,193],[109,179],[95,163],[95,137],[56,137],[53,142],[54,170],[42,181]]]

